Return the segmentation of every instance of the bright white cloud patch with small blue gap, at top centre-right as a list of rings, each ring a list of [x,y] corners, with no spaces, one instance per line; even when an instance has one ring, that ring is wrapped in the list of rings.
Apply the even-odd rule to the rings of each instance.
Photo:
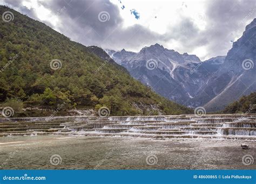
[[[183,18],[191,18],[194,23],[204,29],[205,27],[205,0],[194,1],[131,1],[124,0],[122,3],[116,0],[111,2],[118,6],[120,16],[124,19],[124,27],[139,24],[149,28],[151,31],[164,34],[168,32],[168,27],[176,26]],[[122,5],[125,6],[122,9]],[[140,13],[140,19],[135,19],[131,9],[136,9]],[[203,19],[202,19],[203,18]]]

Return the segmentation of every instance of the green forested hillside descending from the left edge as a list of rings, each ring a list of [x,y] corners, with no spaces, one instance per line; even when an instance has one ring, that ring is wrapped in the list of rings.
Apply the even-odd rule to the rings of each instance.
[[[0,22],[0,102],[17,98],[29,107],[49,109],[62,103],[65,108],[106,106],[110,115],[191,112],[153,93],[122,66],[103,60],[106,53],[100,48],[93,52],[41,22],[0,6],[0,14],[5,11],[11,11],[14,20]]]

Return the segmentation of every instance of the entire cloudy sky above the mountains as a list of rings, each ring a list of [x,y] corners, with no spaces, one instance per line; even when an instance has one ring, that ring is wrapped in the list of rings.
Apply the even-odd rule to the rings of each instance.
[[[138,52],[156,43],[201,60],[226,55],[255,0],[0,0],[86,46]]]

